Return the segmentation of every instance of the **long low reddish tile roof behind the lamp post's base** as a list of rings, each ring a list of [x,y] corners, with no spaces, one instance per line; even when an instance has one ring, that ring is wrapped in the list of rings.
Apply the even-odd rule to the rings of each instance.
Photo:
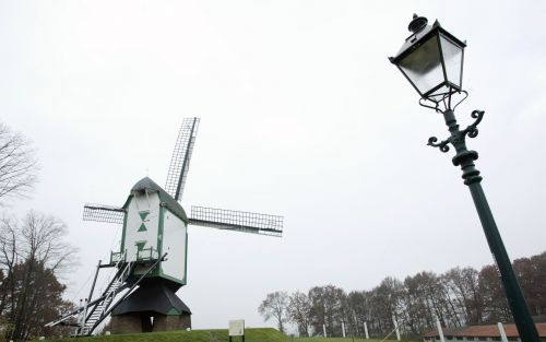
[[[544,323],[535,323],[536,330],[538,330],[538,335],[541,338],[546,338],[546,322]],[[518,338],[520,334],[518,333],[518,329],[515,325],[503,325],[505,332],[508,338]],[[442,328],[444,337],[489,337],[489,338],[498,338],[500,337],[499,328],[497,325],[490,326],[471,326],[463,328]],[[430,331],[424,335],[424,338],[432,338],[438,335],[438,330]]]

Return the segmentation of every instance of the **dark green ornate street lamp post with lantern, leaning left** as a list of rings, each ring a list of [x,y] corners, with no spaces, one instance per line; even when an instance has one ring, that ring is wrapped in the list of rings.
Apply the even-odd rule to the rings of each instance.
[[[484,111],[474,110],[471,116],[475,121],[463,130],[459,128],[454,115],[454,108],[467,96],[467,93],[462,89],[466,44],[441,27],[438,21],[428,25],[426,17],[416,14],[414,14],[408,30],[412,34],[406,38],[396,56],[389,59],[419,93],[419,104],[443,115],[450,137],[440,142],[438,138],[431,137],[428,140],[428,145],[439,148],[443,153],[450,150],[449,144],[455,149],[455,155],[452,158],[453,165],[461,166],[464,184],[471,190],[489,249],[499,269],[502,286],[521,340],[523,342],[539,342],[536,327],[482,189],[482,176],[474,165],[478,154],[476,151],[466,149],[466,137],[475,138],[478,134],[477,125],[482,121]],[[460,96],[462,98],[453,105],[452,98]]]

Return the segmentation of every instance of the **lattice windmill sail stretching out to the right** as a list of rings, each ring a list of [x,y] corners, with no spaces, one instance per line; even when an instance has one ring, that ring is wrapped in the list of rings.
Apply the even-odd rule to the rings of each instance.
[[[190,224],[281,237],[283,216],[206,207],[191,207]]]

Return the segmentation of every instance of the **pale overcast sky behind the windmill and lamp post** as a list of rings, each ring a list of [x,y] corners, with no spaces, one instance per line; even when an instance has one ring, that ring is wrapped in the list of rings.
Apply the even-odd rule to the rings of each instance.
[[[282,238],[189,229],[194,328],[264,326],[273,291],[491,263],[442,118],[387,57],[417,12],[467,40],[461,125],[486,110],[483,186],[512,259],[546,249],[544,1],[0,1],[0,120],[38,149],[31,200],[79,246],[84,297],[121,228],[82,222],[165,182],[182,118],[201,118],[182,204],[285,216]],[[84,290],[82,290],[84,288]],[[268,325],[271,325],[269,322]]]

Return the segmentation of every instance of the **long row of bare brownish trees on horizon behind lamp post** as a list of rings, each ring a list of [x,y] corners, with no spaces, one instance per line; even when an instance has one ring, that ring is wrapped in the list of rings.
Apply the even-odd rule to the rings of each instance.
[[[546,251],[513,261],[513,269],[532,316],[546,315]],[[419,337],[442,327],[509,322],[512,320],[496,266],[476,270],[453,268],[442,274],[419,272],[403,281],[388,276],[370,291],[346,293],[334,285],[313,286],[307,293],[274,292],[258,311],[274,319],[280,331],[294,323],[299,335],[383,338],[394,330]]]

